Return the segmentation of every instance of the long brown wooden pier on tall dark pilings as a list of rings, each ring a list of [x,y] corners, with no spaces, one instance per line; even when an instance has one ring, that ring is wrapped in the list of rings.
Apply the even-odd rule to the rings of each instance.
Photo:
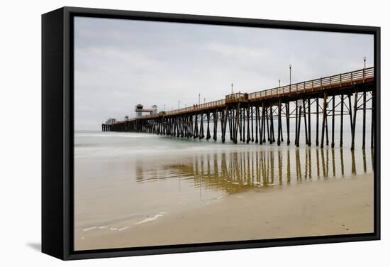
[[[312,117],[316,146],[335,146],[335,117],[340,116],[340,147],[342,147],[344,116],[350,121],[351,149],[355,148],[357,112],[363,112],[362,148],[365,148],[366,111],[372,109],[371,142],[374,147],[374,67],[299,82],[252,93],[235,93],[225,99],[183,109],[140,116],[113,124],[102,124],[102,131],[156,133],[179,138],[213,138],[217,140],[218,124],[221,141],[226,136],[234,143],[277,143],[287,139],[290,144],[290,120],[295,119],[295,146],[300,145],[301,131],[307,146],[312,144]],[[353,96],[354,103],[352,105]],[[371,101],[371,107],[367,102]],[[290,106],[292,107],[290,109]],[[328,117],[330,129],[328,131]],[[282,120],[286,120],[283,129]],[[213,129],[210,127],[213,123]],[[204,126],[206,124],[206,126]],[[303,126],[301,126],[303,124]],[[206,129],[205,129],[206,128]],[[276,132],[276,134],[275,134]],[[212,135],[211,135],[212,133]]]

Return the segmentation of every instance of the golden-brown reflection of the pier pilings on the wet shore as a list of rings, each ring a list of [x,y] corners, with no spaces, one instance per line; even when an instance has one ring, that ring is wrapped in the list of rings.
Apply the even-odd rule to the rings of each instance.
[[[371,162],[367,166],[367,154]],[[358,158],[357,158],[358,157]],[[182,163],[165,165],[172,178],[193,180],[194,187],[243,192],[251,188],[290,185],[304,181],[353,177],[372,173],[372,150],[290,148],[259,151],[228,151],[195,155]],[[357,164],[359,168],[357,168]],[[161,170],[137,169],[137,181],[166,179]]]

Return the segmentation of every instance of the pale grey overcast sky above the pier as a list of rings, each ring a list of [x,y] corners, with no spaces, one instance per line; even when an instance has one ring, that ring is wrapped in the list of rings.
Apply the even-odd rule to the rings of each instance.
[[[74,19],[74,126],[100,130],[136,104],[177,109],[373,65],[374,38],[351,33]]]

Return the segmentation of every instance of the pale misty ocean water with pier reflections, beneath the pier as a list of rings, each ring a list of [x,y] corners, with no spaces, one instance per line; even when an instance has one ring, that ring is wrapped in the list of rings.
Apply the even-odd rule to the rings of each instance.
[[[220,133],[219,133],[220,135]],[[373,150],[355,151],[350,133],[344,148],[324,149],[250,143],[221,143],[147,133],[74,133],[74,225],[79,231],[122,229],[172,212],[223,201],[229,194],[264,192],[318,180],[373,175]],[[312,137],[312,143],[313,142]],[[318,183],[320,186],[321,184]],[[283,191],[281,190],[281,193]]]

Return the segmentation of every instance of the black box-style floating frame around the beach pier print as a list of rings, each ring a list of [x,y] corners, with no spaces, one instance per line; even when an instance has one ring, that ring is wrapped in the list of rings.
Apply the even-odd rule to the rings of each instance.
[[[73,244],[73,19],[74,16],[174,21],[306,31],[374,35],[375,138],[374,233],[260,241],[74,251]],[[253,18],[194,16],[108,9],[62,7],[42,15],[42,251],[62,260],[248,249],[380,239],[380,28]]]

